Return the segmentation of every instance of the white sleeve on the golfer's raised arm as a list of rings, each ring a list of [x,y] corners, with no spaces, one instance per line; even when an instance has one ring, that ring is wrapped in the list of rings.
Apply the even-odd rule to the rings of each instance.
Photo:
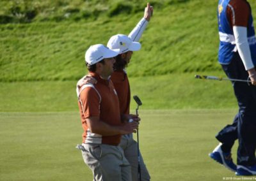
[[[148,21],[145,18],[142,18],[140,22],[132,29],[131,33],[128,35],[132,41],[139,41],[143,31],[146,29]]]

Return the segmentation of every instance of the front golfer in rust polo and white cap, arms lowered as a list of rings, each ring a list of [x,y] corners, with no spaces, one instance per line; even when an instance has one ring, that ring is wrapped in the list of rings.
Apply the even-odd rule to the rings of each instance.
[[[78,91],[78,106],[83,133],[83,159],[93,171],[93,180],[131,180],[131,167],[118,146],[122,134],[135,132],[137,122],[122,123],[118,97],[109,79],[119,50],[93,45],[85,55],[95,84],[83,85]]]

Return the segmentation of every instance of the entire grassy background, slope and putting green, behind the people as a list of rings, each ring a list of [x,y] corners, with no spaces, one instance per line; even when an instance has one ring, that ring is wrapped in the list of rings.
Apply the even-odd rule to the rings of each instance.
[[[235,179],[207,156],[236,112],[232,86],[193,78],[225,76],[217,62],[218,2],[150,3],[154,17],[127,72],[132,95],[143,102],[140,146],[152,180]],[[75,87],[86,73],[84,51],[129,34],[145,4],[0,1],[0,180],[92,180],[74,148],[82,133]]]

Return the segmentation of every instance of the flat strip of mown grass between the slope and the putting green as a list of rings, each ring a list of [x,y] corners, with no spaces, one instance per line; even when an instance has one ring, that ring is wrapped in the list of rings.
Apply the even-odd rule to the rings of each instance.
[[[128,72],[129,73],[129,72]],[[197,80],[195,73],[130,78],[140,109],[236,108],[230,82]],[[223,75],[218,72],[209,75]],[[77,111],[76,82],[0,82],[1,112]],[[131,99],[131,110],[136,103]]]

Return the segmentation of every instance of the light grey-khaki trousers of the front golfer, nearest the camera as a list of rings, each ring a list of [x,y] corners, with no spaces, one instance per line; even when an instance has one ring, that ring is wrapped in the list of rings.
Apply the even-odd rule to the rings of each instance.
[[[131,181],[131,166],[119,146],[84,144],[82,156],[94,181]]]

